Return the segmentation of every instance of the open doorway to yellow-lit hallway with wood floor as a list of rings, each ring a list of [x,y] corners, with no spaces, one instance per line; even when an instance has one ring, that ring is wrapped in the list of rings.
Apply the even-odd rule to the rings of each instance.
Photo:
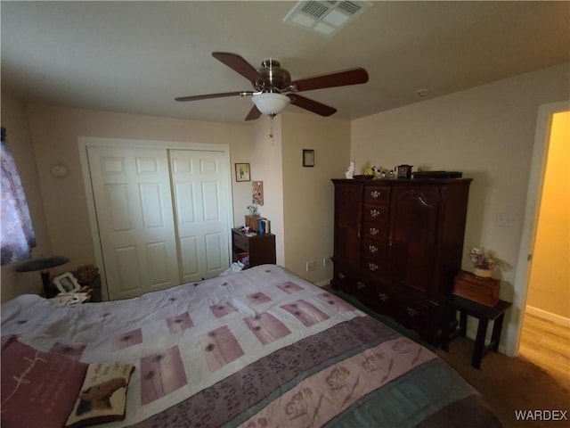
[[[517,267],[526,284],[519,288],[525,295],[513,353],[564,378],[570,368],[569,141],[570,105],[542,106]]]

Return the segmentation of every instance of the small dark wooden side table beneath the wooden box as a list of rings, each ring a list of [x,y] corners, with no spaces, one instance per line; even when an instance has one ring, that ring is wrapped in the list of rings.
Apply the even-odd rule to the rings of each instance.
[[[475,348],[473,357],[471,358],[471,366],[475,368],[481,367],[481,360],[490,350],[497,351],[499,349],[499,341],[501,340],[502,323],[505,312],[510,308],[511,303],[505,300],[499,300],[495,306],[485,306],[473,300],[464,299],[459,296],[452,296],[444,310],[444,325],[442,325],[442,349],[449,350],[449,342],[453,338],[461,335],[466,336],[467,333],[467,317],[476,317],[479,320],[477,326],[477,336],[475,340]],[[449,331],[449,326],[455,317],[457,311],[460,311],[460,325],[455,331]],[[491,342],[485,346],[485,336],[489,321],[493,320],[493,333]]]

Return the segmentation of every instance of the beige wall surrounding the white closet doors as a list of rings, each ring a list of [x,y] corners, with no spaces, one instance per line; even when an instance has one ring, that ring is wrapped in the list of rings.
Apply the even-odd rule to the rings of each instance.
[[[36,152],[39,185],[50,241],[55,253],[66,255],[72,270],[94,263],[85,188],[79,163],[79,136],[154,141],[229,144],[233,158],[248,151],[251,127],[225,123],[91,111],[46,104],[28,105],[29,128]],[[54,165],[69,169],[67,177],[54,177]],[[233,186],[235,176],[232,175]],[[234,203],[240,206],[240,195]]]

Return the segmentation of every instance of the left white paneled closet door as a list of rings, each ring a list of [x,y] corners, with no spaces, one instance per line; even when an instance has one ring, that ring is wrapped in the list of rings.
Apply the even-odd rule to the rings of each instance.
[[[110,299],[180,284],[167,151],[87,147]]]

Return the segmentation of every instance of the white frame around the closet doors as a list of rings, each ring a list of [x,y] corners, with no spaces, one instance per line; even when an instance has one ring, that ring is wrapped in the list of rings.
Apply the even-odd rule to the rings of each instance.
[[[93,186],[91,185],[91,174],[89,171],[89,160],[87,157],[87,147],[110,147],[110,148],[123,148],[123,149],[175,149],[175,150],[191,150],[191,151],[208,151],[208,152],[224,152],[225,168],[227,174],[228,193],[225,195],[227,206],[230,207],[231,212],[227,216],[227,230],[232,230],[233,224],[233,200],[232,200],[232,161],[230,159],[230,144],[213,144],[213,143],[190,143],[190,142],[177,142],[177,141],[156,141],[156,140],[139,140],[139,139],[126,139],[126,138],[106,138],[94,136],[79,136],[77,137],[77,145],[79,147],[79,160],[81,162],[81,174],[83,176],[85,197],[87,201],[87,215],[89,218],[89,227],[91,229],[91,238],[94,245],[95,263],[97,266],[103,267],[103,254],[102,245],[99,236],[99,226],[97,225],[97,215],[95,211],[95,199]],[[229,232],[228,232],[229,233]],[[232,264],[232,243],[228,239],[227,248],[228,262]],[[109,290],[107,288],[107,278],[105,276],[105,269],[101,269],[102,283],[102,298],[109,300]]]

